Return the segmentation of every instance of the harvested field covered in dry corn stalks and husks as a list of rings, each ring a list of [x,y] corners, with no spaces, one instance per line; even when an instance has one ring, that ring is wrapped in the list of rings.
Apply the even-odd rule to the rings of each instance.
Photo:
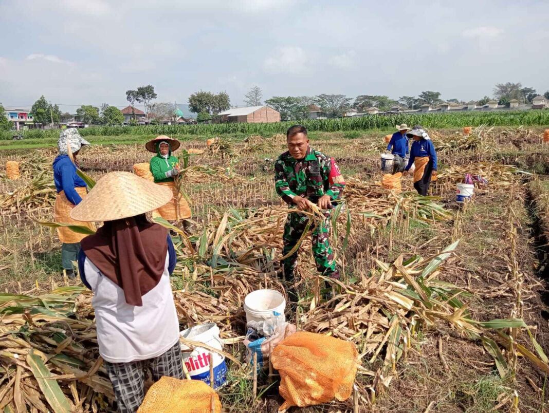
[[[451,126],[475,125],[470,120]],[[440,166],[424,199],[413,193],[410,178],[402,179],[400,194],[380,185],[383,134],[356,132],[356,125],[352,133],[311,133],[311,146],[335,157],[347,182],[332,234],[342,278],[324,301],[305,239],[294,285],[299,302],[287,307],[287,319],[299,330],[354,343],[360,367],[349,400],[290,411],[548,409],[549,145],[543,128],[518,127],[527,122],[494,128],[487,120],[467,135],[461,128],[429,129]],[[401,122],[425,125],[393,118],[389,126]],[[204,127],[218,126],[233,124]],[[176,131],[139,130],[142,139]],[[276,372],[260,374],[254,393],[242,301],[257,288],[291,286],[280,278],[278,262],[288,209],[272,176],[284,136],[274,129],[212,132],[220,139],[206,146],[209,132],[177,131],[203,134],[182,145],[194,152],[182,189],[195,223],[191,234],[176,229],[172,287],[181,329],[208,321],[220,327],[230,357],[227,384],[219,390],[226,411],[275,412],[282,404]],[[102,132],[93,131],[92,144],[104,142]],[[0,151],[2,168],[18,161],[21,171],[9,180],[0,169],[0,409],[47,411],[60,403],[75,411],[113,411],[91,293],[63,279],[57,235],[37,223],[53,219],[55,153]],[[93,179],[129,172],[149,158],[140,143],[96,144],[79,156]],[[488,184],[477,185],[474,199],[460,207],[455,185],[466,173]]]

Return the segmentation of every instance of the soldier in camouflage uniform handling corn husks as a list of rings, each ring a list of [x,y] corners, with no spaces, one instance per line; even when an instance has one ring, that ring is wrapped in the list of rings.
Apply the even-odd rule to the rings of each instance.
[[[275,186],[284,202],[297,206],[300,210],[309,209],[313,202],[323,210],[324,220],[312,230],[312,252],[318,272],[332,278],[339,278],[332,247],[330,247],[330,210],[332,201],[341,197],[345,182],[333,158],[329,158],[309,146],[307,129],[303,126],[292,126],[286,133],[288,151],[278,157],[275,163]],[[284,225],[285,256],[299,241],[309,217],[293,212],[288,214]],[[284,259],[285,278],[294,279],[298,251]]]

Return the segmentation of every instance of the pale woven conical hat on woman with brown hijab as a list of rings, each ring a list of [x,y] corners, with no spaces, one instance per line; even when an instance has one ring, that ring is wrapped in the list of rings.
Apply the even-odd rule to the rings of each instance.
[[[110,172],[99,179],[70,216],[83,222],[133,217],[170,202],[171,189],[130,172]]]

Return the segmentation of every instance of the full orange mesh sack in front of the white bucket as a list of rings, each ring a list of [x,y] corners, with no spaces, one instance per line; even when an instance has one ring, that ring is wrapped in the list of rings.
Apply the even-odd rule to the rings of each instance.
[[[299,331],[273,350],[272,364],[281,377],[279,410],[310,406],[352,393],[358,367],[355,344],[322,334]]]

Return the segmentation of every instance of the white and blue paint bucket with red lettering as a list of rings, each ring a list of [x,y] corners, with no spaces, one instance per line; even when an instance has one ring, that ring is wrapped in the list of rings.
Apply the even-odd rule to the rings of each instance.
[[[180,336],[187,340],[198,341],[218,350],[223,349],[223,342],[219,338],[219,327],[215,323],[199,324],[180,332]],[[183,363],[187,366],[192,380],[201,380],[210,384],[210,350],[203,347],[195,347],[191,351],[185,344],[181,344]],[[225,356],[211,352],[214,363],[214,388],[225,384],[227,380],[227,365]]]

